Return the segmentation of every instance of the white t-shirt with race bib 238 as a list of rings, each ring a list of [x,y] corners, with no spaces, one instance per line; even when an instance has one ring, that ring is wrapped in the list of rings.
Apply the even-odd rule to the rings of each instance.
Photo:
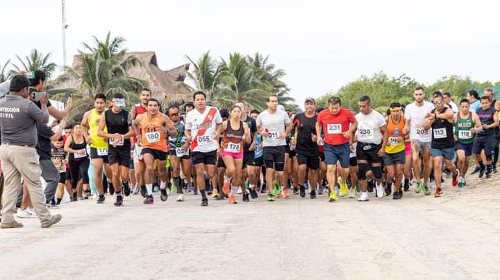
[[[381,113],[372,110],[371,113],[365,115],[361,112],[356,114],[356,121],[358,121],[358,142],[361,143],[382,143],[382,133],[380,128],[385,125],[385,119]]]

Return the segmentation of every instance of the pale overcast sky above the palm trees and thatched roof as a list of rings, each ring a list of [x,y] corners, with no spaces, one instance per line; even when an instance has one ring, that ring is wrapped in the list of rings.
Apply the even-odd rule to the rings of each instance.
[[[342,3],[340,3],[342,2]],[[362,75],[500,80],[499,1],[66,1],[67,59],[108,30],[161,69],[239,51],[270,55],[302,104]],[[0,63],[36,48],[63,64],[61,1],[2,1]]]

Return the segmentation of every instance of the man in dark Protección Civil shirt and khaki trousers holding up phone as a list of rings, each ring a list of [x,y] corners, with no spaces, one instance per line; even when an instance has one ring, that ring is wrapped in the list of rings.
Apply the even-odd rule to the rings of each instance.
[[[35,213],[42,227],[50,227],[61,220],[60,215],[52,216],[45,204],[40,182],[40,161],[35,149],[38,143],[37,123],[47,123],[49,114],[47,94],[40,98],[40,110],[27,100],[30,82],[24,76],[15,76],[10,81],[10,94],[0,100],[1,146],[0,157],[6,182],[3,189],[2,229],[23,227],[14,220],[17,187],[21,178],[28,187]]]

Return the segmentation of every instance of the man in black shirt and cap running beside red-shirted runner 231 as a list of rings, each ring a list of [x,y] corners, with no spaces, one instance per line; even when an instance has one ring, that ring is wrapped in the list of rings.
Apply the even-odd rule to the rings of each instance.
[[[299,188],[302,198],[306,197],[304,184],[309,180],[311,187],[310,198],[316,198],[317,172],[319,168],[319,150],[316,139],[316,100],[306,98],[304,105],[306,112],[295,115],[294,128],[297,133],[297,161],[299,162]],[[293,144],[293,143],[292,143]],[[306,171],[308,170],[308,178]]]

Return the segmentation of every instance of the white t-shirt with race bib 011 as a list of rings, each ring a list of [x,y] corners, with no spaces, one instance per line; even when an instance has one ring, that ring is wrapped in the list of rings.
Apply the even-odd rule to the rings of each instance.
[[[261,112],[257,117],[257,127],[267,129],[269,135],[263,137],[263,147],[285,146],[286,139],[278,137],[285,133],[285,125],[290,123],[290,118],[286,112],[276,110],[274,114],[269,114],[267,110]]]

